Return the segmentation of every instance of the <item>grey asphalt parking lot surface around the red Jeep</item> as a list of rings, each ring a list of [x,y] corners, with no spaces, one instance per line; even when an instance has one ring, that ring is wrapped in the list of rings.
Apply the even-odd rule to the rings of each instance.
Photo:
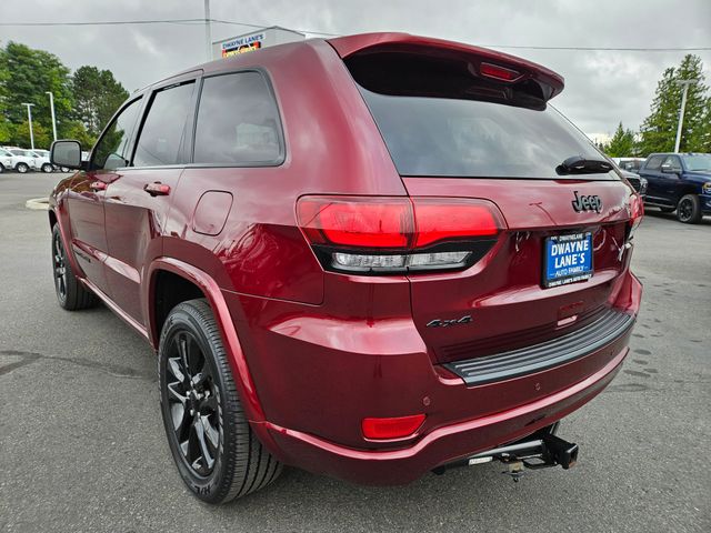
[[[650,210],[633,270],[644,300],[612,385],[563,421],[579,465],[498,464],[363,487],[294,469],[221,507],[178,476],[150,348],[104,306],[57,302],[44,211],[61,174],[0,174],[0,530],[711,531],[711,219]]]

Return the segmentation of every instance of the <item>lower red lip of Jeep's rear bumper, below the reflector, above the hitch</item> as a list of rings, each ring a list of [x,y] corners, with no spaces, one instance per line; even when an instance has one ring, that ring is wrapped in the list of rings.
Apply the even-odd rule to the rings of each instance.
[[[509,411],[433,430],[412,446],[363,451],[264,422],[281,459],[310,472],[362,484],[403,484],[442,464],[518,440],[552,424],[597,396],[618,373],[628,348],[585,380]]]

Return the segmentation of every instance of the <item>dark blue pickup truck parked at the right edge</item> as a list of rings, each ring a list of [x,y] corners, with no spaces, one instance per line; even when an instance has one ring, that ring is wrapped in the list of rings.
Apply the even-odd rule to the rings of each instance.
[[[645,205],[675,210],[677,219],[690,224],[711,214],[711,153],[652,153],[639,174],[648,183]]]

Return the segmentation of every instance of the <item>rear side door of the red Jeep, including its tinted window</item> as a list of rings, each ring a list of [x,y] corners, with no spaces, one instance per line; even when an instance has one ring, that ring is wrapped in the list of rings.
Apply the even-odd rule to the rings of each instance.
[[[187,124],[194,114],[199,72],[157,86],[147,95],[130,165],[117,170],[106,191],[111,298],[146,325],[141,282],[161,255],[163,228],[187,161]]]

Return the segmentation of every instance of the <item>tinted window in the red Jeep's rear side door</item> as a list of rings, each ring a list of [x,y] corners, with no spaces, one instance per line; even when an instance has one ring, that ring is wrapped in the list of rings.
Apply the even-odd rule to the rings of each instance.
[[[133,167],[181,163],[180,147],[194,81],[153,93],[133,155]]]

